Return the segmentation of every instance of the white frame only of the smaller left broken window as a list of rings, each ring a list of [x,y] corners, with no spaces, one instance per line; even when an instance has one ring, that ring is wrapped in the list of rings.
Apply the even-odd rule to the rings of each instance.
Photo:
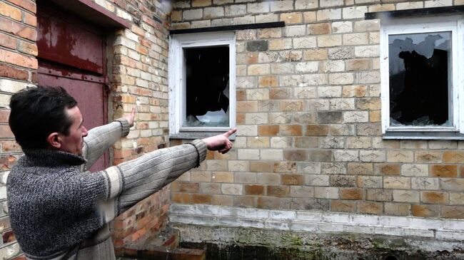
[[[229,48],[229,126],[185,127],[186,60],[183,48],[228,46]],[[173,35],[169,41],[169,132],[171,137],[198,138],[236,127],[236,36],[233,31]]]

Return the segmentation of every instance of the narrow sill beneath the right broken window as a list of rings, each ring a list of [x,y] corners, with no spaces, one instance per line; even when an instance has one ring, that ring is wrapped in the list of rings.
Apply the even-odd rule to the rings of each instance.
[[[460,132],[385,132],[384,140],[464,140]]]

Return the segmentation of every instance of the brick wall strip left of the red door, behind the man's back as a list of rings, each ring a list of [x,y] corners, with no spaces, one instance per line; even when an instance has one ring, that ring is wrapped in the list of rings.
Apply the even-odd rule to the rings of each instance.
[[[11,232],[6,204],[6,176],[21,155],[9,129],[9,98],[37,80],[36,4],[0,1],[0,256],[15,259],[20,249]],[[19,256],[21,258],[21,256]]]

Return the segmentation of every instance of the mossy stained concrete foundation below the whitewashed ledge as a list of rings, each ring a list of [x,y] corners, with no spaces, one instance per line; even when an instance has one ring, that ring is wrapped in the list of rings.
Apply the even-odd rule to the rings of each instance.
[[[192,224],[175,224],[174,227],[181,231],[182,247],[206,249],[206,259],[211,260],[464,259],[462,241],[353,233],[288,232]],[[455,249],[429,250],[450,245]]]

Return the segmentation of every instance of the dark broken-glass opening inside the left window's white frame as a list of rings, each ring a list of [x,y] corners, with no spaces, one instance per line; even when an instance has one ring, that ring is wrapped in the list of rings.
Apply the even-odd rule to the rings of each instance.
[[[229,48],[184,48],[186,118],[183,126],[229,126]]]

